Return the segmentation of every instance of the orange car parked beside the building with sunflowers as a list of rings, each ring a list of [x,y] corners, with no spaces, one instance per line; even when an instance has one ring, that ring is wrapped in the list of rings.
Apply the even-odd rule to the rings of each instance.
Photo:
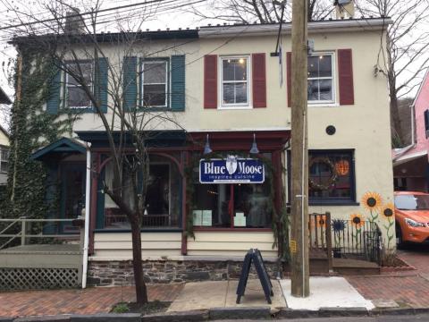
[[[404,242],[429,243],[429,193],[395,192],[396,239]]]

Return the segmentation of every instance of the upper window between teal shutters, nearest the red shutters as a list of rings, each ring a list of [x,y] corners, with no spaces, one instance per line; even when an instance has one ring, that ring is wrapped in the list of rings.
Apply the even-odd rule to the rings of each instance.
[[[142,106],[168,106],[168,62],[145,61],[141,64]]]

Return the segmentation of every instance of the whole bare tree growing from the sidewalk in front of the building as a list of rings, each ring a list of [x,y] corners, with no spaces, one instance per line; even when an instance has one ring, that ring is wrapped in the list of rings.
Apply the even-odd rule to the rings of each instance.
[[[151,54],[149,41],[138,30],[147,16],[156,12],[156,8],[139,8],[139,11],[133,13],[132,19],[121,21],[110,16],[119,32],[103,34],[97,33],[100,4],[92,5],[87,12],[79,13],[61,1],[51,1],[42,5],[46,9],[43,19],[37,15],[16,12],[21,19],[21,26],[14,30],[17,36],[13,42],[18,51],[24,47],[31,48],[52,59],[57,69],[69,75],[83,89],[103,124],[113,169],[113,181],[105,182],[104,191],[130,223],[136,297],[137,302],[143,304],[147,302],[147,288],[143,279],[140,229],[142,216],[147,210],[148,141],[153,139],[153,132],[160,128],[181,127],[170,112],[147,112],[137,105],[127,106],[124,100],[127,86],[130,85],[123,79],[124,70],[128,68],[123,63],[124,57],[145,57]],[[88,81],[90,68],[94,68],[92,81]],[[102,70],[109,75],[104,88],[105,100],[100,98]],[[136,80],[139,72],[134,71],[131,78]],[[150,106],[150,101],[146,100],[143,104]],[[105,113],[105,108],[108,113]]]

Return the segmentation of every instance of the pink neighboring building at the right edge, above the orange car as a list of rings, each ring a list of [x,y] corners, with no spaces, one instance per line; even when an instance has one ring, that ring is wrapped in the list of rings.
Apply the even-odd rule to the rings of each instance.
[[[412,144],[393,151],[395,190],[429,191],[429,69],[413,105]]]

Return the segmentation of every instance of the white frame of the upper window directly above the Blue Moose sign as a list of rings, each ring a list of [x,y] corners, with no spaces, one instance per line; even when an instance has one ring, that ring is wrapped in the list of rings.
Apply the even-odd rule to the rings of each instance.
[[[240,59],[240,58],[244,58],[247,60],[247,96],[248,96],[248,101],[246,103],[223,103],[223,61],[224,60],[228,60],[228,59]],[[251,68],[250,65],[252,64],[251,62],[251,58],[250,55],[227,55],[227,56],[219,56],[219,62],[218,62],[218,66],[219,66],[219,104],[218,104],[218,108],[219,109],[250,109],[252,108],[252,84],[251,84],[251,80],[252,80],[252,74],[251,74]],[[239,80],[226,80],[226,82],[228,83],[234,83],[234,82],[243,82],[243,81],[239,81]]]

